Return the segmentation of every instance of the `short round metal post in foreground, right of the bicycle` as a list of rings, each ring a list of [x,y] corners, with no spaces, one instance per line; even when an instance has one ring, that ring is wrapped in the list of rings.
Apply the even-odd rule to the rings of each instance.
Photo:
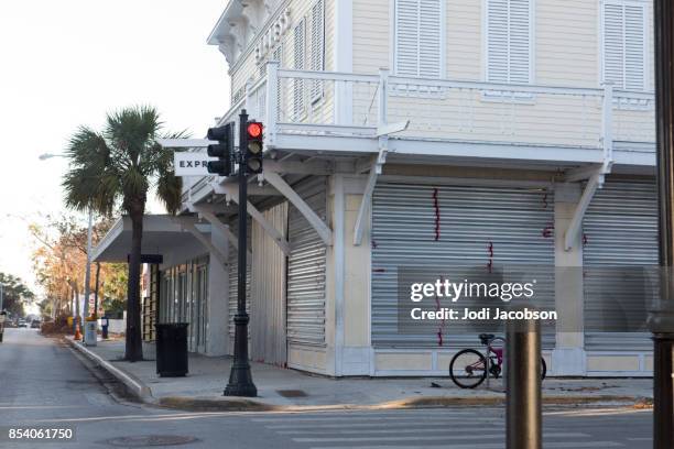
[[[541,449],[541,325],[509,321],[506,337],[506,448]]]

